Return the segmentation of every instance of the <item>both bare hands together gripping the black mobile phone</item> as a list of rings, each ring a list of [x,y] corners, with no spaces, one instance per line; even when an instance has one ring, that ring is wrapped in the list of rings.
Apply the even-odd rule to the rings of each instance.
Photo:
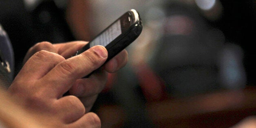
[[[26,54],[24,66],[8,89],[9,94],[24,109],[45,115],[49,124],[58,124],[56,127],[100,127],[99,117],[88,112],[104,88],[108,73],[123,67],[128,54],[122,51],[100,72],[82,78],[101,67],[108,56],[103,46],[94,46],[71,57],[86,43],[36,44]],[[63,97],[67,91],[70,95]]]

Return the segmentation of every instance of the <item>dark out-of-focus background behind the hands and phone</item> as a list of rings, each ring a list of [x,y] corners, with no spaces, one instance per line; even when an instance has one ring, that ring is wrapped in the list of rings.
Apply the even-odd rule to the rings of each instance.
[[[256,0],[0,0],[15,73],[35,43],[90,41],[130,9],[143,31],[92,110],[103,128],[231,127],[254,117]]]

